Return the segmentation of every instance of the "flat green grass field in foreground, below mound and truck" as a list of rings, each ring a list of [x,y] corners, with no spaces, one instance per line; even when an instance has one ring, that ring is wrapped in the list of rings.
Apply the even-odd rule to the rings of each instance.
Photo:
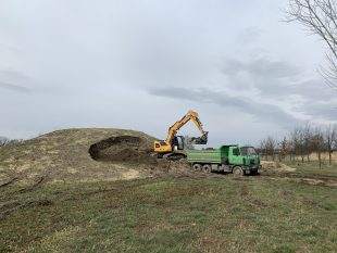
[[[336,188],[224,176],[18,190],[0,191],[0,213],[13,208],[0,252],[337,251]]]

